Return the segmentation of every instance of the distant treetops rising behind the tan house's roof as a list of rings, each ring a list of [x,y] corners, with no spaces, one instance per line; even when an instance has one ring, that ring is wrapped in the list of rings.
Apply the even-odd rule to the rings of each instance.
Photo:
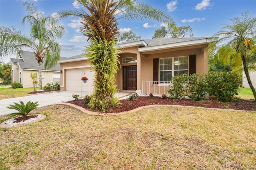
[[[168,30],[165,26],[155,30],[153,38],[186,38],[194,37],[192,28],[190,26],[177,27],[173,24],[169,25]]]

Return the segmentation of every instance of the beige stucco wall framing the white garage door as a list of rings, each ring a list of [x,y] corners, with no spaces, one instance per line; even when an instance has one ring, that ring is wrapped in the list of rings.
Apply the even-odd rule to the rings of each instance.
[[[71,61],[67,63],[60,63],[60,70],[62,73],[60,74],[60,90],[66,91],[66,87],[64,82],[66,82],[66,70],[68,69],[78,69],[83,67],[90,67],[90,62],[87,59],[81,61]]]

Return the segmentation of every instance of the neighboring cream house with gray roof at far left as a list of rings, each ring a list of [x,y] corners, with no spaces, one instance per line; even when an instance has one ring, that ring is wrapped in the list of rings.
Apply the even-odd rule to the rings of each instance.
[[[64,57],[61,57],[61,59]],[[12,83],[21,83],[23,87],[33,87],[30,73],[37,73],[38,76],[38,62],[35,58],[34,52],[20,51],[16,58],[10,58],[10,65],[12,66]],[[51,70],[44,70],[44,63],[42,65],[42,86],[47,83],[60,81],[60,64],[57,63]]]

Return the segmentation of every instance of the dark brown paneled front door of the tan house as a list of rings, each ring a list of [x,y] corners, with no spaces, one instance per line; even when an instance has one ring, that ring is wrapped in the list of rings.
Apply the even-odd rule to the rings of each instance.
[[[137,90],[137,65],[124,66],[123,71],[123,90]]]

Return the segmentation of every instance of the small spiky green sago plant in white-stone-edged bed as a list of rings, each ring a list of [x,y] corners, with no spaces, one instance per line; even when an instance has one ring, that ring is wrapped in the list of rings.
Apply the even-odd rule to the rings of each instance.
[[[18,112],[17,113],[11,113],[9,116],[16,116],[16,115],[22,115],[22,116],[27,116],[32,110],[36,109],[37,106],[39,104],[37,104],[37,102],[31,102],[31,101],[28,101],[28,103],[26,103],[26,105],[24,105],[23,101],[20,101],[20,104],[19,103],[15,103],[14,102],[14,105],[9,105],[7,106],[8,109],[15,109],[17,110]]]

